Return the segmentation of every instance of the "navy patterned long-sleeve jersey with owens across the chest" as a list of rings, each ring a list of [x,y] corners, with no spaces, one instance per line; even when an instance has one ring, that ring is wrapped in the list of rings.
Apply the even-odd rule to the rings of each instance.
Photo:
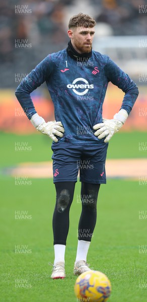
[[[122,109],[130,113],[138,95],[135,83],[107,55],[92,51],[86,62],[73,60],[66,49],[49,54],[23,79],[16,90],[29,119],[36,113],[30,93],[46,82],[54,104],[56,121],[64,136],[60,141],[80,144],[102,143],[93,126],[102,122],[102,106],[109,82],[124,93]]]

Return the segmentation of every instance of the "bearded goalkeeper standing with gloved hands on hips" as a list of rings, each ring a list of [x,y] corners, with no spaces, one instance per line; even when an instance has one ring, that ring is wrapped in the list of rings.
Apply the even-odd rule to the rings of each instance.
[[[87,254],[97,219],[97,198],[106,183],[105,161],[110,138],[126,121],[138,95],[129,76],[107,55],[92,50],[96,22],[82,13],[69,20],[67,48],[49,54],[16,90],[16,96],[34,127],[52,140],[54,264],[51,278],[64,278],[64,254],[69,209],[80,170],[82,212],[73,273],[90,270]],[[55,121],[36,112],[30,93],[46,82],[54,104]],[[124,93],[120,111],[102,118],[108,83]],[[52,202],[52,200],[50,201]]]

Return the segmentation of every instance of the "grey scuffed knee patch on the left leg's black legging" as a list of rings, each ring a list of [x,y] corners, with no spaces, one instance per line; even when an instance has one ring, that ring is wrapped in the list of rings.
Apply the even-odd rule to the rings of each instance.
[[[58,212],[64,212],[67,208],[70,200],[70,194],[67,189],[64,189],[60,192],[59,196],[56,198],[56,207]]]

